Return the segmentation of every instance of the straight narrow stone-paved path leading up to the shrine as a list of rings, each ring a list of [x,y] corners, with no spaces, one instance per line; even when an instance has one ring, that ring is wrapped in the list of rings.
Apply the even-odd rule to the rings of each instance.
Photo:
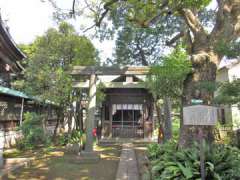
[[[132,143],[123,144],[116,179],[139,180],[137,161]]]

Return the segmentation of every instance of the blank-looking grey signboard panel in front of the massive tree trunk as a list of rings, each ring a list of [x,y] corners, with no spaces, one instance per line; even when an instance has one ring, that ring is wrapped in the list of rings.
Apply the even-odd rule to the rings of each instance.
[[[206,105],[184,107],[183,123],[184,125],[213,126],[217,123],[217,108]]]

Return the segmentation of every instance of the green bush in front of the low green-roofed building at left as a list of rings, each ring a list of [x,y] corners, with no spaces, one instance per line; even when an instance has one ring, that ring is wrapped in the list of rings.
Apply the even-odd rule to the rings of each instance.
[[[50,139],[44,133],[42,119],[43,117],[36,113],[24,114],[24,121],[20,126],[23,138],[16,144],[19,149],[31,149],[50,143]]]

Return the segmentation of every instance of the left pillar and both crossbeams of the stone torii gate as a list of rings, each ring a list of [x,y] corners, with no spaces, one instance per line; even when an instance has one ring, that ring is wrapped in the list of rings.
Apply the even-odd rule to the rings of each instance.
[[[93,153],[93,135],[92,129],[94,128],[95,110],[96,110],[96,92],[97,92],[97,76],[98,75],[146,75],[149,72],[149,67],[139,66],[139,67],[95,67],[95,66],[74,66],[71,72],[72,76],[89,76],[89,102],[88,102],[88,115],[86,121],[86,153]],[[106,84],[106,88],[136,88],[143,85],[139,83],[119,83],[111,82],[111,84]],[[84,84],[80,82],[75,82],[73,87],[83,88]]]

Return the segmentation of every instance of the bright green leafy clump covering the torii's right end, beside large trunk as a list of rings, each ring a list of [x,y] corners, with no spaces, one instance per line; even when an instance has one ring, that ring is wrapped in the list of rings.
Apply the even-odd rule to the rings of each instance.
[[[191,63],[181,48],[176,48],[162,60],[162,64],[152,66],[146,80],[146,87],[156,98],[180,97],[183,81],[191,71]]]

